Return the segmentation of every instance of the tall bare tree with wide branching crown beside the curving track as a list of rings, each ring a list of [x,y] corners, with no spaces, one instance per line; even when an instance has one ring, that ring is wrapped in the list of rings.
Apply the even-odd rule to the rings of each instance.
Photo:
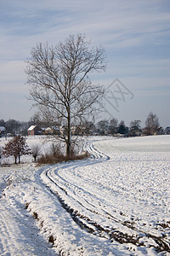
[[[37,44],[31,50],[26,74],[30,98],[49,125],[62,125],[59,137],[71,154],[71,125],[80,123],[98,108],[103,87],[91,83],[88,75],[104,71],[105,49],[94,48],[85,36],[69,36],[64,43],[50,47]]]

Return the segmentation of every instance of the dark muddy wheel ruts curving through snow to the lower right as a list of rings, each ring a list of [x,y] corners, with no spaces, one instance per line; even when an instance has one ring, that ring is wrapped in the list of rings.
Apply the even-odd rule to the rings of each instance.
[[[50,171],[48,171],[48,172],[50,172]],[[59,185],[57,183],[55,183],[53,177],[48,176],[48,172],[46,172],[46,177],[48,177],[48,179],[53,184],[55,184],[55,186],[59,187]],[[65,191],[65,189],[63,189],[61,187],[59,187],[59,189]],[[94,236],[99,236],[99,237],[102,237],[105,239],[109,239],[111,241],[115,240],[120,243],[132,243],[133,245],[136,245],[138,247],[143,247],[144,242],[139,241],[141,234],[143,234],[145,237],[148,237],[149,239],[151,238],[153,241],[156,241],[156,244],[157,244],[156,249],[157,250],[170,252],[168,242],[165,241],[163,237],[151,235],[149,233],[144,232],[144,230],[138,230],[133,225],[126,223],[126,222],[122,222],[122,220],[115,218],[114,216],[111,215],[110,212],[106,212],[104,210],[104,212],[108,215],[107,218],[112,219],[115,223],[122,224],[123,226],[126,226],[127,229],[134,230],[137,233],[136,233],[136,236],[134,236],[134,235],[128,235],[127,233],[123,233],[122,231],[119,231],[119,229],[118,230],[117,229],[112,229],[112,230],[106,229],[105,227],[101,226],[93,219],[88,218],[88,216],[81,214],[80,212],[75,210],[73,207],[69,206],[65,202],[65,200],[62,199],[62,196],[60,196],[59,193],[55,189],[51,189],[51,193],[53,193],[53,195],[56,195],[58,197],[58,200],[59,200],[61,206],[65,209],[66,212],[71,214],[71,218],[80,226],[80,228],[82,230],[86,230],[88,233],[91,233]],[[65,194],[67,195],[66,191],[65,191]],[[80,205],[82,205],[82,203],[80,201],[77,201],[77,202]],[[86,208],[89,212],[93,212],[91,209],[85,207],[84,205],[82,205],[82,207]],[[99,215],[103,216],[99,212],[94,212],[94,215],[95,214],[99,214]],[[103,217],[105,217],[105,216],[103,216]],[[140,236],[138,236],[138,233],[140,233]],[[153,246],[153,247],[155,247],[155,246]]]

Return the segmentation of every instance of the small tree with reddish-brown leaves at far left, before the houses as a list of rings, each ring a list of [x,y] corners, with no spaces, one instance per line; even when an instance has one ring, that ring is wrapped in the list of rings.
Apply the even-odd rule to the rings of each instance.
[[[20,164],[20,156],[22,154],[30,154],[30,148],[26,144],[26,138],[16,136],[8,141],[3,147],[3,155],[5,157],[14,156],[14,163],[17,164],[17,158],[19,159]]]

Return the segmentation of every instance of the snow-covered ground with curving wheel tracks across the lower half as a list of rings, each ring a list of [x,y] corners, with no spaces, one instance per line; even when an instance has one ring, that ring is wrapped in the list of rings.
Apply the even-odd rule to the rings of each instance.
[[[170,255],[170,136],[86,141],[88,160],[0,168],[1,255]]]

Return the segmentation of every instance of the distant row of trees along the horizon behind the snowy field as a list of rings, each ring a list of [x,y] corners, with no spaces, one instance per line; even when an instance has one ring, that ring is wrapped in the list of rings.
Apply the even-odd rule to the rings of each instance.
[[[9,136],[16,135],[27,135],[27,130],[31,125],[37,125],[39,127],[48,127],[48,124],[42,123],[39,119],[38,113],[35,113],[33,117],[28,122],[20,122],[14,119],[8,119],[8,121],[4,121],[0,119],[0,126],[4,126],[6,128],[6,133]],[[115,136],[117,134],[126,135],[127,137],[136,137],[140,135],[154,135],[156,132],[161,133],[163,131],[160,126],[159,119],[155,113],[150,112],[145,120],[144,128],[141,127],[141,121],[139,119],[134,119],[127,126],[125,122],[122,120],[118,123],[116,118],[112,118],[110,120],[102,119],[97,124],[94,124],[92,121],[84,121],[81,125],[75,125],[72,127],[72,134],[74,135],[112,135]]]

